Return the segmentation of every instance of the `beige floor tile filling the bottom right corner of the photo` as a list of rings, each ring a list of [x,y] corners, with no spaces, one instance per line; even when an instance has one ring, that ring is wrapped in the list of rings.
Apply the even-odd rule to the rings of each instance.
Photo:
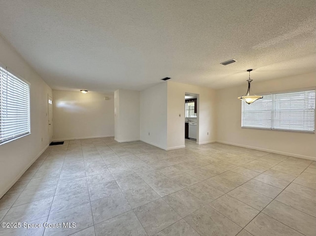
[[[273,201],[262,212],[306,236],[315,236],[316,218],[302,211]]]

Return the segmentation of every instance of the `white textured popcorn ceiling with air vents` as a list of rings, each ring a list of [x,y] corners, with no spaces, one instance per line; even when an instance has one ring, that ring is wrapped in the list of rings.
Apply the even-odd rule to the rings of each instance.
[[[53,89],[214,89],[316,71],[315,0],[0,0],[0,34]],[[228,66],[221,62],[236,59]]]

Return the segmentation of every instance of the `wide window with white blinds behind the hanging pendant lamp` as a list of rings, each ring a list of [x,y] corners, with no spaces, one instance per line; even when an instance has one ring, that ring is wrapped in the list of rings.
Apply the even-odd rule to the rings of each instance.
[[[315,132],[315,89],[264,95],[241,103],[241,127]]]

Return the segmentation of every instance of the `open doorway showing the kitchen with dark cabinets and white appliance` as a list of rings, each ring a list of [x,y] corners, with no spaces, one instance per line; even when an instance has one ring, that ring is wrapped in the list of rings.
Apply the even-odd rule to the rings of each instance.
[[[198,139],[198,94],[185,93],[185,142]],[[189,141],[190,140],[190,141]]]

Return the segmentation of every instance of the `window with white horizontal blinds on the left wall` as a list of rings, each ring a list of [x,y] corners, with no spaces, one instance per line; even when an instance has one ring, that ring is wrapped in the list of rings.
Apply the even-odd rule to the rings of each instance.
[[[0,143],[30,132],[30,85],[0,67]]]

